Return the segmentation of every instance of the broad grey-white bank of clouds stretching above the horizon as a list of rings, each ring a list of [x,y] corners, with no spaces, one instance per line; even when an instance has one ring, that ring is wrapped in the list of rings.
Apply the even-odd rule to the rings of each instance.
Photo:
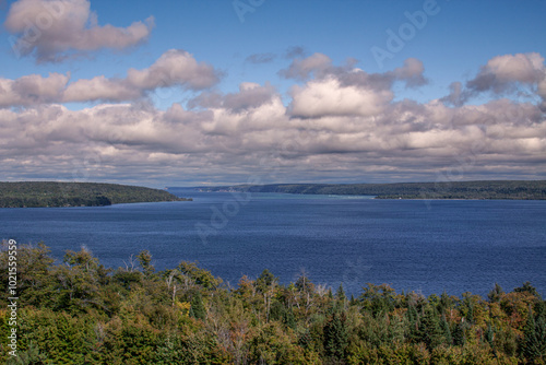
[[[1,174],[153,185],[546,178],[541,55],[495,57],[428,103],[395,98],[396,84],[428,82],[419,60],[382,73],[354,64],[296,58],[280,71],[297,81],[287,95],[253,82],[222,93],[214,67],[182,50],[122,79],[1,79]],[[166,110],[143,97],[173,85],[199,93]],[[478,95],[489,101],[468,103]],[[100,104],[62,105],[74,101]]]

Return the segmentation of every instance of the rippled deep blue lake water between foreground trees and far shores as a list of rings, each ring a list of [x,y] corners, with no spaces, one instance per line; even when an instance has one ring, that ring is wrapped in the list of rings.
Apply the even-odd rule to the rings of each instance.
[[[372,200],[173,190],[192,202],[0,209],[0,238],[87,247],[107,267],[149,249],[158,270],[198,260],[236,286],[268,268],[354,294],[390,283],[425,295],[485,295],[525,281],[546,294],[546,201]]]

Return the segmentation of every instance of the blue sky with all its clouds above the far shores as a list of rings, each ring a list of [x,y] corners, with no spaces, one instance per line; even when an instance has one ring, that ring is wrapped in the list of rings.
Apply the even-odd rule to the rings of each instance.
[[[539,0],[0,0],[0,180],[546,179],[544,14]]]

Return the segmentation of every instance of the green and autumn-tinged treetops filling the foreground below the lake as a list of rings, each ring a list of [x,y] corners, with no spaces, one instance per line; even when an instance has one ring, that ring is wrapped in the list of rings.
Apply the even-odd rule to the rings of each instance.
[[[5,245],[4,245],[5,246]],[[87,250],[17,251],[17,364],[545,364],[546,303],[525,283],[487,298],[367,284],[357,297],[270,271],[236,287],[149,251],[116,270]],[[8,252],[0,279],[8,287]],[[9,331],[4,294],[1,333]],[[7,335],[0,361],[10,360]]]

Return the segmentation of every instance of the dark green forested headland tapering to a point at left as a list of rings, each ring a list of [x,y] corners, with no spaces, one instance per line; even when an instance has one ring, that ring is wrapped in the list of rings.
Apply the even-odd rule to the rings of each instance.
[[[189,199],[178,198],[165,190],[116,184],[0,182],[0,208],[102,207],[183,200]]]

